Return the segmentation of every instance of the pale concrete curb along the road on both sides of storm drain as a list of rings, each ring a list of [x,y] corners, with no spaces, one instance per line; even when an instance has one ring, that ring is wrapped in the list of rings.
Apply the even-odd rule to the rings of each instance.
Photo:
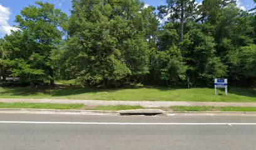
[[[143,109],[142,109],[143,110]],[[132,110],[130,110],[131,112]],[[137,111],[137,110],[134,110]],[[119,111],[87,111],[87,110],[66,110],[66,109],[6,109],[1,108],[0,113],[6,114],[67,114],[67,115],[88,115],[88,116],[120,116]],[[176,115],[203,115],[203,116],[215,116],[215,115],[249,115],[256,116],[256,112],[241,112],[241,111],[163,111],[159,116],[176,116]]]

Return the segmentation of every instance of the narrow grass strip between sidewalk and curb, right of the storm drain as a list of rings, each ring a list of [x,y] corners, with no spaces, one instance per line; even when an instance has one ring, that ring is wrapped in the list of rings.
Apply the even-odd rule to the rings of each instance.
[[[173,111],[256,111],[250,107],[205,107],[205,106],[172,106]]]

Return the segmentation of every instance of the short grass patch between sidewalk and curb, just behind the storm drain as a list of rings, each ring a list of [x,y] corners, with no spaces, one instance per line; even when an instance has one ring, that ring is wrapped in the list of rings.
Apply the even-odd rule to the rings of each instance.
[[[122,111],[122,110],[131,110],[131,109],[144,109],[142,106],[97,106],[92,109],[87,110],[98,110],[98,111]]]

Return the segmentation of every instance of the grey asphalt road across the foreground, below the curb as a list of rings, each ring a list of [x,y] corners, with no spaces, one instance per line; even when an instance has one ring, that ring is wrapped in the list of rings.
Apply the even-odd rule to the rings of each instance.
[[[0,149],[254,150],[255,123],[255,116],[0,114]]]

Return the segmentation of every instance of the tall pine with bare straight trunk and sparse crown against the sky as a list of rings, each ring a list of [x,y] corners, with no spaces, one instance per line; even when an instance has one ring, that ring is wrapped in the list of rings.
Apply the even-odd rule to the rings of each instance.
[[[166,0],[167,5],[159,6],[159,16],[168,16],[169,21],[180,21],[181,41],[184,40],[184,22],[194,17],[196,13],[195,0]]]

